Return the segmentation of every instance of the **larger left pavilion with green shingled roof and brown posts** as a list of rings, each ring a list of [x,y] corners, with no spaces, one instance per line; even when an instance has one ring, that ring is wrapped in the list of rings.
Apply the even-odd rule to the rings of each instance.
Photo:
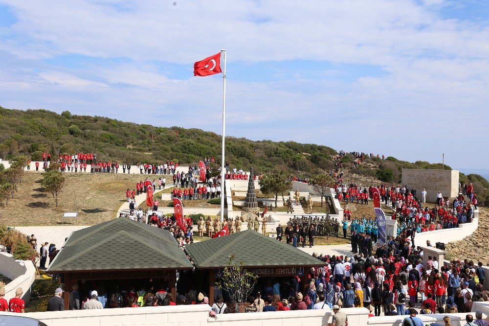
[[[78,280],[168,279],[175,298],[177,270],[193,265],[167,230],[119,217],[71,233],[46,273],[61,274],[65,309]]]

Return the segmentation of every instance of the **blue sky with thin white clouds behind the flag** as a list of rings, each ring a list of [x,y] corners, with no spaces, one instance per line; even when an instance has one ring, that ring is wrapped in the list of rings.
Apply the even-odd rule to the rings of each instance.
[[[0,105],[488,168],[487,0],[0,0]],[[1,122],[0,122],[1,125]]]

